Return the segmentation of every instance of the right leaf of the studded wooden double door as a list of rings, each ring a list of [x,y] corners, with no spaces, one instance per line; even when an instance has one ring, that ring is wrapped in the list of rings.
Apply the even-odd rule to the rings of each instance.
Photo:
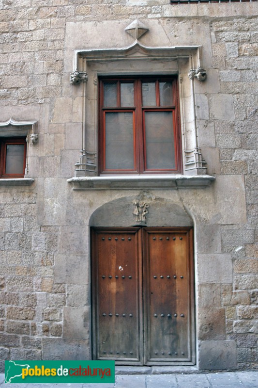
[[[145,365],[193,362],[192,231],[143,228]]]

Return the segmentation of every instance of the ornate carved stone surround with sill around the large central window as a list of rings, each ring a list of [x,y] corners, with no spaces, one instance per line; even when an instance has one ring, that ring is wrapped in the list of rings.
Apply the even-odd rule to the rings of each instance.
[[[201,46],[146,47],[138,40],[125,48],[74,50],[70,83],[82,84],[83,97],[80,158],[76,162],[75,177],[67,180],[73,183],[74,189],[180,188],[211,184],[215,178],[206,175],[206,162],[202,159],[197,136],[195,82],[206,79],[206,71],[200,66],[201,52]],[[168,74],[179,77],[183,174],[97,176],[98,77]]]

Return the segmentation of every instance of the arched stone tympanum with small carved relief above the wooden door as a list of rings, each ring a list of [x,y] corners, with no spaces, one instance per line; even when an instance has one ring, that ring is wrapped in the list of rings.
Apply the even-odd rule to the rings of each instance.
[[[147,204],[145,221],[139,221],[137,204]],[[193,220],[182,205],[150,192],[128,195],[97,208],[91,215],[90,226],[193,226]]]

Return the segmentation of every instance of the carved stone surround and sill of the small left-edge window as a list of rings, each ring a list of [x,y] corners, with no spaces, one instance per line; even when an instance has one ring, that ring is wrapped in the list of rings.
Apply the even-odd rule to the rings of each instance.
[[[30,141],[34,144],[37,142],[38,135],[34,133],[37,121],[16,121],[12,117],[5,122],[0,123],[0,137],[21,137],[26,136],[27,155],[24,178],[0,178],[0,186],[30,186],[33,178],[26,178],[29,174],[30,159]]]

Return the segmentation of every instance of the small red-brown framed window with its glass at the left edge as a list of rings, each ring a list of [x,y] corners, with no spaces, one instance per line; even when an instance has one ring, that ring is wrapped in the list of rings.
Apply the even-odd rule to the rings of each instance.
[[[0,138],[0,178],[24,178],[26,153],[25,137]]]

